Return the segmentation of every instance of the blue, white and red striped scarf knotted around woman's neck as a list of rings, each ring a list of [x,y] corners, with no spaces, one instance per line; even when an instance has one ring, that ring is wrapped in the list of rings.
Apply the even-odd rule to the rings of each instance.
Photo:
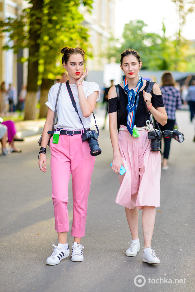
[[[137,85],[135,87],[135,89],[129,89],[128,88],[128,83],[127,83],[127,79],[125,76],[125,79],[123,81],[123,87],[124,87],[124,91],[125,93],[127,93],[128,96],[128,103],[127,103],[127,129],[129,131],[129,133],[133,134],[133,126],[134,126],[134,121],[135,121],[135,96],[136,94],[140,91],[140,88],[142,88],[143,86],[143,79],[140,76],[140,74],[138,74],[139,76],[139,80],[137,82]]]

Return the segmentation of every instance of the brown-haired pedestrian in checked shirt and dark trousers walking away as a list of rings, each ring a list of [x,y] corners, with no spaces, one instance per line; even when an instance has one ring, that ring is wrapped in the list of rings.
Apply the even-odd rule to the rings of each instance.
[[[163,102],[167,112],[168,120],[166,125],[162,126],[159,123],[161,131],[173,131],[175,125],[175,111],[181,108],[182,100],[181,94],[178,89],[175,88],[175,80],[170,72],[165,72],[162,76],[162,86],[160,87]],[[166,170],[169,168],[167,161],[169,158],[170,142],[171,139],[163,138],[164,140],[164,151],[163,151],[163,163],[162,169]]]

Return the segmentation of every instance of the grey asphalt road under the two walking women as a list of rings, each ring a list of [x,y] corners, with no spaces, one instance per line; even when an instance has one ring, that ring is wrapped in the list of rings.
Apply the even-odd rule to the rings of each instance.
[[[177,123],[185,141],[180,144],[172,139],[170,168],[161,172],[161,207],[156,208],[152,240],[160,264],[142,262],[142,211],[140,252],[135,257],[125,255],[131,236],[124,207],[114,202],[119,181],[110,167],[112,146],[108,129],[100,132],[102,154],[96,158],[92,176],[81,263],[72,262],[69,257],[59,265],[46,265],[52,244],[58,243],[49,147],[45,174],[37,163],[39,136],[18,143],[22,153],[0,157],[0,291],[194,291],[194,125],[186,111],[177,112]],[[71,226],[71,182],[68,208]],[[70,247],[72,241],[69,232]],[[144,284],[143,277],[146,280],[142,287],[134,283],[138,275],[142,279],[137,278],[137,285]]]

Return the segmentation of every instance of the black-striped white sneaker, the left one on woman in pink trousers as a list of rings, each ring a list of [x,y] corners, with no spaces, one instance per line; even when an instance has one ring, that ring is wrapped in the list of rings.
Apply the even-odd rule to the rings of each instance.
[[[57,265],[60,263],[60,260],[63,258],[67,258],[70,254],[69,246],[65,249],[60,243],[57,246],[52,244],[55,248],[53,249],[53,253],[46,260],[46,264],[48,265]]]

